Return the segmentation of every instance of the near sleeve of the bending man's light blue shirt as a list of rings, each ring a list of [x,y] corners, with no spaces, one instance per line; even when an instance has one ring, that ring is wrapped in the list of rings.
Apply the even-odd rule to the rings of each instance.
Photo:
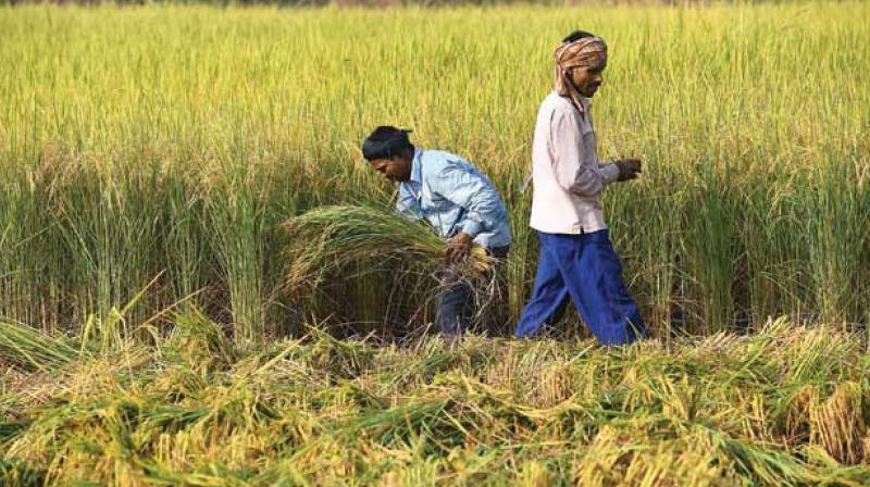
[[[456,227],[472,238],[493,230],[505,218],[501,199],[484,176],[448,166],[437,178],[437,192],[464,210]]]

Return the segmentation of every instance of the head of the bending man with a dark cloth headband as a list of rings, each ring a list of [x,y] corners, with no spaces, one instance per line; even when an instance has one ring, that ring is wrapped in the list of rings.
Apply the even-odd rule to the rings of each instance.
[[[362,157],[382,176],[393,182],[411,178],[414,146],[403,128],[382,125],[362,141]]]

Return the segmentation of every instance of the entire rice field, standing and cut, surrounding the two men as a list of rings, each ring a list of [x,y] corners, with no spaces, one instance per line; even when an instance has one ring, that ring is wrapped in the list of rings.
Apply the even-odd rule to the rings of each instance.
[[[0,5],[0,485],[870,485],[868,20]],[[645,164],[602,197],[651,332],[624,348],[576,315],[508,338],[535,116],[576,28],[609,43],[601,159]],[[414,228],[372,216],[383,124],[501,192],[486,336],[426,333],[438,241],[394,259]],[[300,215],[371,238],[328,248]]]

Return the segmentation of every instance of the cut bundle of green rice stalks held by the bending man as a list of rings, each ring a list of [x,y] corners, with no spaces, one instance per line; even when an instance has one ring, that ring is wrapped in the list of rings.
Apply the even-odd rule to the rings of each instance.
[[[331,271],[357,264],[359,272],[400,264],[403,272],[432,275],[445,265],[446,241],[431,228],[390,211],[366,207],[322,207],[285,224],[287,286],[290,290],[316,287]],[[475,247],[457,264],[463,275],[478,276],[494,260]]]

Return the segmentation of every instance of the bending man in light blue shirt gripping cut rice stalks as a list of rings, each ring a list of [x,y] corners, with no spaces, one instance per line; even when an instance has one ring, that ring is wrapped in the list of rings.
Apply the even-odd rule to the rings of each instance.
[[[470,162],[439,150],[415,148],[410,130],[374,129],[362,143],[362,155],[385,178],[399,183],[396,210],[426,220],[447,239],[447,260],[465,259],[472,245],[497,259],[510,247],[508,212],[493,183]],[[461,335],[474,314],[471,286],[446,266],[439,278],[436,321],[445,335]]]

